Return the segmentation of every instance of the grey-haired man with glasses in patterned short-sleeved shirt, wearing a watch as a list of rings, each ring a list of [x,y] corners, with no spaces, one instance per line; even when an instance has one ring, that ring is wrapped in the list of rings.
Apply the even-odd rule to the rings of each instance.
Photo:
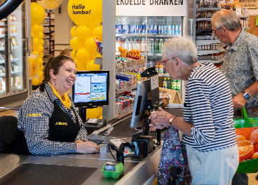
[[[238,16],[227,10],[213,15],[212,29],[227,46],[222,72],[231,87],[233,118],[242,118],[243,107],[249,118],[258,117],[258,37],[245,32]],[[248,184],[247,174],[236,174],[233,184]]]

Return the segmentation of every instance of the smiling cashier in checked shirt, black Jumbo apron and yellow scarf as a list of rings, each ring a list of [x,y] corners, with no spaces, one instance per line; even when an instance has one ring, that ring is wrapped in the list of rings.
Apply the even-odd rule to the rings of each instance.
[[[97,144],[87,141],[87,131],[67,95],[76,81],[74,60],[52,57],[43,75],[40,87],[22,104],[12,152],[45,156],[99,152]]]

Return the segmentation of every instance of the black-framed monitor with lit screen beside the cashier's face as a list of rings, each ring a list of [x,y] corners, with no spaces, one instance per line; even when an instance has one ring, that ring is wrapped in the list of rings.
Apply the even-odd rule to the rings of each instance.
[[[109,104],[109,71],[77,71],[72,100],[75,107]]]

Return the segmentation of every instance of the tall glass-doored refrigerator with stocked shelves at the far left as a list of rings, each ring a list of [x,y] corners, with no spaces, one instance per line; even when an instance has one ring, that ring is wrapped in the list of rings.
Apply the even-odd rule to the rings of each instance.
[[[30,21],[27,22],[26,18],[30,8],[25,8],[27,4],[30,6],[30,2],[23,1],[13,13],[0,21],[0,105],[18,101],[19,96],[24,99],[29,93],[27,58]],[[4,101],[6,98],[9,100]]]

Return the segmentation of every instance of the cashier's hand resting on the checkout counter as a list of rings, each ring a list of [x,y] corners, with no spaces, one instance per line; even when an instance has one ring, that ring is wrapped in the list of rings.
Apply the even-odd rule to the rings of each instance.
[[[76,140],[76,153],[99,153],[100,146],[94,142],[83,142],[81,140]]]

